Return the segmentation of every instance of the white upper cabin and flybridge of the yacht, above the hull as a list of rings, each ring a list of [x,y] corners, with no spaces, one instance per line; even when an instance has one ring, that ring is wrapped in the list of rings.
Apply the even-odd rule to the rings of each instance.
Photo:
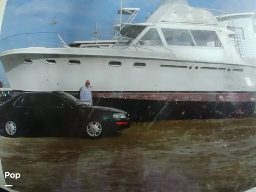
[[[120,33],[114,49],[168,53],[158,54],[159,59],[248,65],[229,38],[234,32],[223,28],[208,10],[162,4],[145,23],[125,26]]]

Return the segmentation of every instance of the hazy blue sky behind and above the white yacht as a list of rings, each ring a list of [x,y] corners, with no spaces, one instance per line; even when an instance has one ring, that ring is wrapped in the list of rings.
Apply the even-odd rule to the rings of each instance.
[[[222,10],[225,12],[254,12],[255,0],[187,0],[190,6]],[[134,22],[146,20],[149,12],[156,9],[160,0],[123,0],[123,7],[140,8]],[[7,0],[0,34],[0,51],[33,46],[60,44],[54,32],[61,32],[66,44],[75,40],[91,40],[88,34],[95,30],[98,23],[99,33],[113,35],[114,24],[120,23],[120,0]],[[216,14],[216,12],[214,12]],[[51,24],[55,20],[56,24]],[[125,22],[125,18],[123,18]],[[22,33],[52,32],[52,34],[31,34],[7,36]],[[106,37],[99,36],[99,40]],[[48,44],[46,44],[46,42]],[[8,86],[2,64],[0,81]]]

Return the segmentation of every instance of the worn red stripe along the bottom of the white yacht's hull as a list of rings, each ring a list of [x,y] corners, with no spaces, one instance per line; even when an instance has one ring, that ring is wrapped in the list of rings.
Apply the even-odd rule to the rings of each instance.
[[[194,102],[253,102],[256,93],[166,93],[166,92],[93,92],[96,98],[118,98],[137,100],[162,100],[162,101],[194,101]]]

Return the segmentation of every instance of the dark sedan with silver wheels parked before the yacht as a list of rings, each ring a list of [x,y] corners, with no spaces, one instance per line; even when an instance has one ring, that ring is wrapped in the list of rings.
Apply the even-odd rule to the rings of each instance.
[[[100,138],[129,128],[130,118],[123,110],[87,106],[62,91],[25,92],[0,106],[0,126],[9,137],[43,133]]]

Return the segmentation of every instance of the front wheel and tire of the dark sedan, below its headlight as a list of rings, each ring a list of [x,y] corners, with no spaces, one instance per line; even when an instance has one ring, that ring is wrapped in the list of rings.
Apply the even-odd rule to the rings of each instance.
[[[83,129],[83,135],[90,139],[100,139],[104,132],[104,121],[99,118],[88,120]]]

